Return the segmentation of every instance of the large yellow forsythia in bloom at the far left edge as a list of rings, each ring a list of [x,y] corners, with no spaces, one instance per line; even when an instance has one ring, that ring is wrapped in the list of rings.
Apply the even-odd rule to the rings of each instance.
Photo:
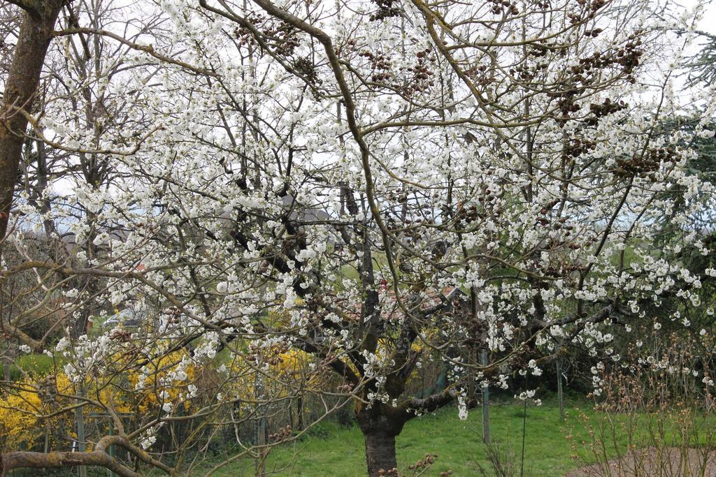
[[[81,383],[77,379],[73,383],[65,373],[47,373],[3,385],[0,451],[69,450],[76,438],[73,406],[79,387],[82,395],[101,404],[84,406],[85,423],[95,422],[90,414],[105,412],[104,406],[137,416],[155,413],[158,408],[164,412],[190,410],[200,383],[195,383],[198,368],[185,351],[140,365],[135,364],[134,355],[118,354],[115,358],[110,361],[110,372],[84,373]],[[91,429],[86,428],[88,432]]]

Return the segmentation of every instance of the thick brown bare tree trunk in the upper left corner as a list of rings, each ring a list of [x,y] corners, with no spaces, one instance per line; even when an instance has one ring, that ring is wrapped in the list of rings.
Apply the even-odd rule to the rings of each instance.
[[[17,182],[27,118],[62,0],[16,0],[25,10],[0,104],[0,240],[4,239]]]

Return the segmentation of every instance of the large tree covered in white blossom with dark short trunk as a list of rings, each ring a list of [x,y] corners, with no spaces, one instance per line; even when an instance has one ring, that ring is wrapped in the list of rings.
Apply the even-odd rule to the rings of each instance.
[[[667,257],[714,247],[695,226],[713,186],[686,167],[712,108],[691,129],[662,127],[684,107],[674,71],[690,40],[664,32],[694,19],[669,24],[651,7],[162,2],[172,33],[122,59],[151,58],[152,77],[129,69],[96,85],[133,95],[125,121],[146,124],[136,147],[121,149],[121,129],[87,145],[64,132],[72,94],[43,118],[54,147],[91,149],[121,172],[102,190],[74,185],[92,222],[67,227],[102,253],[6,276],[102,277],[64,292],[67,307],[157,310],[150,335],[110,330],[63,349],[78,380],[132,347],[139,367],[177,350],[189,351],[180,368],[228,356],[241,365],[221,379],[251,369],[256,388],[248,399],[219,386],[217,400],[261,408],[276,399],[261,384],[272,361],[313,356],[306,373],[341,380],[316,392],[354,403],[369,475],[392,471],[416,415],[456,401],[464,416],[478,388],[540,375],[563,348],[619,360],[615,335],[665,295],[709,306],[698,290],[713,264]],[[677,232],[661,255],[667,225]],[[428,363],[447,385],[416,393]],[[161,408],[128,436],[175,418]]]

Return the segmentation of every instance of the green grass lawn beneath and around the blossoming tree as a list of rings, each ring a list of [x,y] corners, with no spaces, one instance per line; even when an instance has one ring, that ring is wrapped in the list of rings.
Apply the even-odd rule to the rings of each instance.
[[[624,453],[629,443],[627,415],[596,413],[590,403],[571,400],[565,404],[566,418],[559,420],[557,403],[548,399],[540,407],[528,404],[524,435],[524,475],[534,477],[564,476],[569,471],[599,461],[616,457],[616,451]],[[633,421],[632,431],[637,446],[654,445],[649,441],[649,421],[652,426],[657,415],[639,413]],[[604,439],[604,447],[591,445],[595,438],[589,436],[588,426],[593,429],[596,441]],[[614,421],[612,421],[614,420]],[[609,422],[613,427],[609,425]],[[713,418],[702,423],[703,428],[716,425]],[[678,445],[677,434],[672,419],[662,416],[665,435],[657,443],[665,446]],[[599,431],[604,426],[604,435]],[[520,475],[520,463],[523,438],[522,403],[498,403],[490,406],[490,427],[493,443],[497,443],[503,461],[511,463],[516,472],[508,475]],[[425,453],[437,454],[437,460],[430,469],[422,474],[439,476],[443,471],[453,471],[453,476],[480,476],[480,467],[486,475],[492,476],[485,445],[482,442],[482,412],[474,409],[466,421],[458,419],[455,408],[445,408],[437,413],[415,418],[405,425],[396,439],[398,466],[406,469],[425,456]],[[356,426],[341,428],[336,423],[321,423],[311,432],[311,436],[298,442],[274,448],[266,460],[268,475],[274,476],[333,476],[363,477],[365,455],[363,436]],[[676,441],[672,441],[675,438]],[[699,442],[692,446],[703,445]],[[579,456],[579,457],[578,457]],[[218,461],[216,462],[218,463]],[[214,464],[216,464],[214,463]],[[190,476],[203,476],[212,466],[205,465],[187,473]],[[213,475],[219,477],[253,476],[253,461],[244,458],[221,468]],[[412,473],[407,473],[410,476]]]

